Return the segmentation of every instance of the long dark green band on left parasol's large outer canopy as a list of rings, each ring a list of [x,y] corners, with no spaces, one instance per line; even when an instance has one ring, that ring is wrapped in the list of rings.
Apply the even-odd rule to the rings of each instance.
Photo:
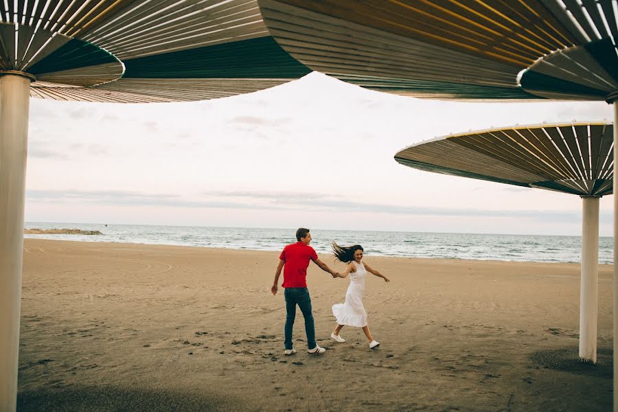
[[[271,36],[124,60],[123,78],[300,78],[311,69]]]

